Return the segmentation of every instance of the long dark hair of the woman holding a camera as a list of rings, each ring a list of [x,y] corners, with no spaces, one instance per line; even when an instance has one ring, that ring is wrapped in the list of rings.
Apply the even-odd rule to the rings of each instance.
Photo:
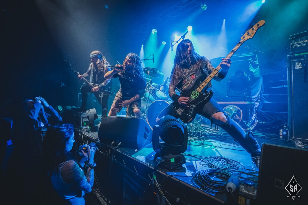
[[[61,162],[74,160],[71,152],[65,149],[66,142],[73,134],[72,124],[55,125],[47,130],[43,140],[43,159],[47,170],[57,167]]]

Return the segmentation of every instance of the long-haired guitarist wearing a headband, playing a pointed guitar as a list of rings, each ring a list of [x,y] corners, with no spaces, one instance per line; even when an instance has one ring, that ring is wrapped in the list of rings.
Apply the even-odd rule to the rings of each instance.
[[[90,87],[88,84],[84,83],[81,87],[81,98],[82,103],[80,110],[87,110],[87,93],[93,92],[99,104],[102,106],[102,116],[107,115],[108,99],[109,95],[99,96],[100,92],[105,90],[111,90],[111,81],[105,79],[104,75],[110,71],[109,63],[105,56],[100,51],[92,51],[90,54],[91,64],[87,72],[82,75],[78,75],[79,80],[84,78],[90,78],[90,83],[94,86]]]

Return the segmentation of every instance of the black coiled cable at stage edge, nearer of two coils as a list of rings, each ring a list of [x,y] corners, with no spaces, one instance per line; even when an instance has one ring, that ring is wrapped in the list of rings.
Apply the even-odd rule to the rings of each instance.
[[[223,193],[231,174],[220,169],[207,169],[193,174],[192,183],[210,194]]]

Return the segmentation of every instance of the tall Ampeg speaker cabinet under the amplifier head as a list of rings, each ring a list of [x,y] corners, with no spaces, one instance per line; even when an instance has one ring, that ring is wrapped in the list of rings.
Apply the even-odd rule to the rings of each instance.
[[[307,54],[288,55],[289,138],[308,140],[308,61]]]

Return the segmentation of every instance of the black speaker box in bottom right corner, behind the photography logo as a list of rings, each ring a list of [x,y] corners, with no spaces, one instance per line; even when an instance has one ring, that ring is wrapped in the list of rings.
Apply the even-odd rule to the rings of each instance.
[[[262,144],[257,204],[307,204],[308,150]]]

